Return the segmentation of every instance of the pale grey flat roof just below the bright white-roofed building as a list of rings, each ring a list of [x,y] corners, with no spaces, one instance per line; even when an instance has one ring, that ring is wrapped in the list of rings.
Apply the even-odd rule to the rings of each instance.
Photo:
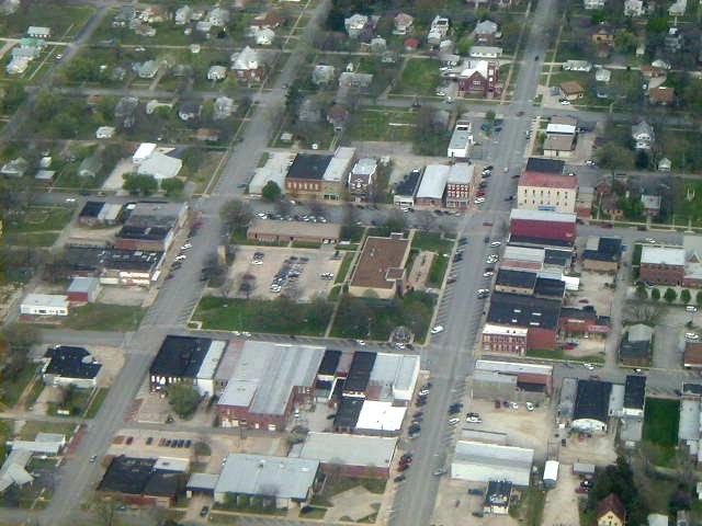
[[[396,447],[397,438],[309,433],[299,456],[317,459],[322,464],[389,468]]]

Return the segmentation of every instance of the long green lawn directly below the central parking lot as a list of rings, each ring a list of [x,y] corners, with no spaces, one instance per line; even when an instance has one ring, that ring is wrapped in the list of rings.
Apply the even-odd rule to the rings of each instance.
[[[203,329],[321,336],[330,316],[326,304],[297,304],[283,297],[267,301],[205,296],[192,319],[201,321]]]

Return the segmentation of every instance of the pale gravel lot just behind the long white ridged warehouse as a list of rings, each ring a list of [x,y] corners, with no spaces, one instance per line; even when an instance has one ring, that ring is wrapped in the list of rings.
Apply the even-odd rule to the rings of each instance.
[[[534,461],[545,460],[554,424],[550,405],[541,405],[534,411],[526,411],[523,404],[519,409],[495,409],[492,401],[474,400],[465,404],[464,411],[474,411],[483,418],[482,424],[464,424],[465,427],[507,433],[509,446],[532,448]]]

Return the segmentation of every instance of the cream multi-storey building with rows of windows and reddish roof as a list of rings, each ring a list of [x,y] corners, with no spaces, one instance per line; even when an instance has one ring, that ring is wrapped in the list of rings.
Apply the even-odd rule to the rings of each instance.
[[[574,213],[577,194],[577,176],[524,170],[517,186],[517,206],[528,210]]]

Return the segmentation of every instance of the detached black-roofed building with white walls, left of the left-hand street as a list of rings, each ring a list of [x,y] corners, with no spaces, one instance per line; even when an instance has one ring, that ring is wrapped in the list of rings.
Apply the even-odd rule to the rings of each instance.
[[[98,385],[102,364],[83,347],[56,345],[44,354],[42,380],[50,386],[90,389]]]

